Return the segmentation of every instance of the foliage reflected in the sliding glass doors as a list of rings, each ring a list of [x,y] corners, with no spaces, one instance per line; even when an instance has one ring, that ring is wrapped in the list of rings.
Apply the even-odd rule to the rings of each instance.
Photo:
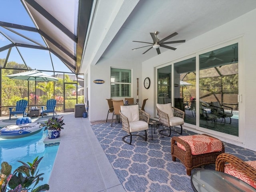
[[[200,99],[206,102],[217,97],[220,102],[225,102],[226,98],[232,103],[232,96],[238,94],[238,63],[202,69],[199,76]],[[180,94],[183,94],[181,97],[184,101],[190,101],[191,97],[196,97],[196,73],[190,72],[182,80],[192,84],[180,87]]]

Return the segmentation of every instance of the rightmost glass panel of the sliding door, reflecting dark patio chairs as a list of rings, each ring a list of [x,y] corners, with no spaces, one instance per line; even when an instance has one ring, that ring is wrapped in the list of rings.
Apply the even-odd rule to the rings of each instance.
[[[199,55],[200,127],[238,136],[238,43]]]

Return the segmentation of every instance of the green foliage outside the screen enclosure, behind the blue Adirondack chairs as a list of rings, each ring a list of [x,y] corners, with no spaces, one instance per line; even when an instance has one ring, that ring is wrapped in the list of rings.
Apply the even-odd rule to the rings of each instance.
[[[0,59],[0,67],[4,66],[4,59]],[[51,98],[57,100],[56,111],[63,111],[64,104],[64,82],[65,83],[76,83],[76,81],[70,79],[68,74],[64,75],[64,78],[58,78],[57,82],[35,82],[26,80],[16,80],[6,77],[9,74],[15,74],[24,72],[26,66],[24,64],[17,64],[16,62],[7,62],[6,67],[8,69],[2,68],[2,114],[8,114],[9,109],[7,106],[15,106],[16,102],[20,99],[28,100],[30,106],[36,105],[44,106],[46,101]],[[16,68],[16,69],[10,69]],[[35,83],[36,83],[36,95],[35,93]],[[29,87],[29,90],[28,90]],[[40,91],[41,90],[41,91]],[[76,104],[76,86],[74,84],[65,84],[66,97],[72,98],[73,100],[66,100],[66,108],[74,108]],[[84,102],[84,96],[78,96],[78,103]],[[6,107],[4,107],[6,106]]]

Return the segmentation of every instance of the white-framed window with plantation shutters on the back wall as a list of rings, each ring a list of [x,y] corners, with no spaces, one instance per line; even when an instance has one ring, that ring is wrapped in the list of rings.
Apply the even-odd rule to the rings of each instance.
[[[130,97],[131,70],[111,68],[111,97]]]

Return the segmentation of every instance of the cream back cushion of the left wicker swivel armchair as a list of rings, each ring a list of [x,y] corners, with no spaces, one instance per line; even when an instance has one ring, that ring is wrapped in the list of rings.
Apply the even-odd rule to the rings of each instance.
[[[139,105],[121,106],[121,113],[128,118],[129,123],[140,120]]]

